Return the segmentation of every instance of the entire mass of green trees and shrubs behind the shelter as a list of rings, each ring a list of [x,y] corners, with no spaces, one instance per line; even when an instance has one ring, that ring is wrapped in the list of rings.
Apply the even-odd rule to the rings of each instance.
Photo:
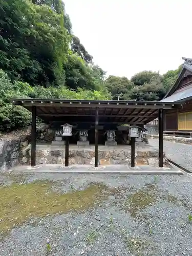
[[[0,0],[0,131],[31,122],[11,97],[160,100],[180,68],[105,79],[73,34],[62,0]]]

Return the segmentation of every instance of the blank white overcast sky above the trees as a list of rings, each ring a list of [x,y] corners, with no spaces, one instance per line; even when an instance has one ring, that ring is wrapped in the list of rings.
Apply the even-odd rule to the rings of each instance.
[[[192,58],[192,0],[64,0],[73,33],[108,75],[177,69]]]

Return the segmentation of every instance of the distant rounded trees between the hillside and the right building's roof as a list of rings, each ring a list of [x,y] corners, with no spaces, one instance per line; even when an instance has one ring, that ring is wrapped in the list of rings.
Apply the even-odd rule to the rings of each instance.
[[[112,93],[113,99],[120,95],[123,100],[161,100],[173,86],[181,70],[170,70],[164,75],[157,72],[142,71],[135,74],[131,80],[126,77],[109,76],[105,86]]]

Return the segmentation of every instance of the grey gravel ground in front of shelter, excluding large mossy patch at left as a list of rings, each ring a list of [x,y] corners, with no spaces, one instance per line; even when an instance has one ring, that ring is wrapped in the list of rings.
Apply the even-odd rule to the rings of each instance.
[[[1,189],[12,182],[29,184],[39,180],[56,181],[53,189],[63,194],[83,191],[90,183],[104,184],[110,193],[83,211],[33,216],[3,237],[0,255],[192,255],[192,177],[187,174],[0,176]]]

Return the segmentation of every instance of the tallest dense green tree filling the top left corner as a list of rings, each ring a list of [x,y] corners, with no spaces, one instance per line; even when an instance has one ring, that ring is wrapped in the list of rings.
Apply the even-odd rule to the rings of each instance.
[[[0,2],[0,68],[12,81],[60,84],[69,36],[63,16],[27,0]]]

